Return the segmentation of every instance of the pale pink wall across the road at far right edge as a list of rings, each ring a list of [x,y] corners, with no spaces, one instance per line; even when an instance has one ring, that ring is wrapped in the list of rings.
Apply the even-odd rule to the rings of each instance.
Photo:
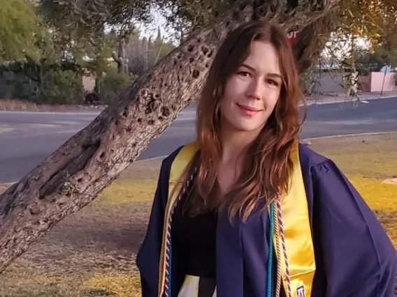
[[[394,82],[395,73],[370,73],[368,76],[359,77],[359,89],[365,92],[396,91],[397,87]]]

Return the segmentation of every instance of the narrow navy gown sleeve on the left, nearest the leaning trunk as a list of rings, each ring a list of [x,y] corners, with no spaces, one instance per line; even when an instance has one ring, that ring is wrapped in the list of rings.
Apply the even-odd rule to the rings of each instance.
[[[136,257],[136,265],[140,272],[142,297],[158,296],[161,237],[164,226],[164,211],[168,197],[170,168],[167,163],[168,160],[164,160],[161,164],[146,235]]]

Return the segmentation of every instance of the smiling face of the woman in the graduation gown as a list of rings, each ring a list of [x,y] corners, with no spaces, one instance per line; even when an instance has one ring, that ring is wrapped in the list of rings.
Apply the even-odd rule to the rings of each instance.
[[[236,131],[260,131],[273,112],[282,86],[275,47],[254,41],[243,64],[227,79],[220,101],[222,125]]]

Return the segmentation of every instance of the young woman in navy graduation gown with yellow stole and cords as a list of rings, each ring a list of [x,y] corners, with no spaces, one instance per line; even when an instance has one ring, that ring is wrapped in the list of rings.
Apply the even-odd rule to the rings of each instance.
[[[391,297],[396,250],[329,159],[298,144],[286,33],[249,22],[219,48],[197,141],[161,165],[142,296]]]

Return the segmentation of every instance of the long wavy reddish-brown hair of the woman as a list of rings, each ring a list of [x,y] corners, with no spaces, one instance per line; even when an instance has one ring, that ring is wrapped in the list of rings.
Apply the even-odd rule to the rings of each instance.
[[[226,80],[245,61],[250,54],[250,45],[257,40],[272,44],[278,52],[283,77],[280,98],[264,129],[248,148],[235,185],[224,197],[219,197],[215,171],[222,155],[219,100]],[[287,33],[281,26],[254,21],[231,31],[219,47],[198,101],[198,174],[185,205],[196,214],[208,208],[226,209],[229,219],[238,214],[247,220],[259,199],[264,199],[264,209],[274,199],[277,190],[286,192],[292,169],[291,148],[301,127],[300,100],[303,100],[303,94],[298,71]]]

